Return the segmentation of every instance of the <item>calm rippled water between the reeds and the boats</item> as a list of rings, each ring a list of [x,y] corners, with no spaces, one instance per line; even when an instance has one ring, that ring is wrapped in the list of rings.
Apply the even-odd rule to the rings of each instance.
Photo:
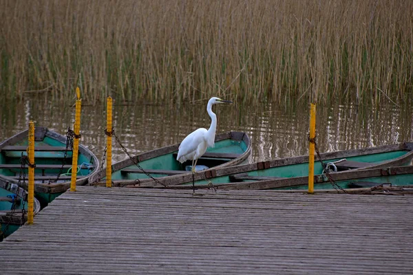
[[[49,102],[47,96],[3,102],[0,109],[0,140],[36,126],[65,135],[73,129],[74,101],[71,104]],[[208,128],[207,100],[196,104],[150,104],[114,102],[116,135],[132,155],[153,148],[181,142],[191,131]],[[411,104],[383,104],[366,107],[340,104],[317,104],[317,143],[321,152],[363,148],[413,140]],[[81,143],[102,159],[106,136],[106,111],[103,104],[83,102]],[[218,115],[217,132],[246,131],[253,142],[250,162],[308,154],[309,106],[284,107],[277,104],[231,105],[213,107]],[[113,162],[127,158],[119,144],[113,143]]]

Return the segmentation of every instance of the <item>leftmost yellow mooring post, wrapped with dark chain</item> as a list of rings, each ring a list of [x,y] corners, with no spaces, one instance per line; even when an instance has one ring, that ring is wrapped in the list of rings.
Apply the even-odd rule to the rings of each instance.
[[[29,122],[29,194],[28,194],[28,224],[33,224],[34,204],[34,122]]]

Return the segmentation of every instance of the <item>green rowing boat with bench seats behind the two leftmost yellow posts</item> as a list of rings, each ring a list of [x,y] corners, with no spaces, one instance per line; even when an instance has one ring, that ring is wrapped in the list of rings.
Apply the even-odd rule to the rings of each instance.
[[[66,141],[67,137],[45,127],[34,129],[34,192],[42,207],[70,188],[73,151],[70,146],[66,146]],[[19,181],[21,158],[22,154],[27,155],[27,148],[28,130],[1,142],[0,177],[14,183]],[[97,157],[79,144],[76,185],[87,184],[87,179],[97,172],[97,168]],[[23,172],[27,179],[27,165]],[[27,190],[27,181],[21,187]]]

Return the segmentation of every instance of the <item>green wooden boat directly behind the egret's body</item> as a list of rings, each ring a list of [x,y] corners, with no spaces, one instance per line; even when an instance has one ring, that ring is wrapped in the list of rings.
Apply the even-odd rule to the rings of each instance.
[[[173,175],[191,175],[191,161],[180,164],[176,160],[179,144],[148,151],[112,165],[112,186],[155,182],[151,177],[165,180]],[[251,140],[244,132],[230,131],[215,135],[215,146],[198,159],[196,170],[204,171],[241,164],[251,153]],[[140,169],[136,164],[139,164]],[[106,169],[89,178],[91,185],[103,185]]]

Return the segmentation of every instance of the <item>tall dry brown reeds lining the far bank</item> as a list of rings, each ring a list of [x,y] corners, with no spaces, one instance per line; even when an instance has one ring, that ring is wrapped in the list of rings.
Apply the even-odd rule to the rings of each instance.
[[[403,100],[411,0],[0,0],[0,94]]]

